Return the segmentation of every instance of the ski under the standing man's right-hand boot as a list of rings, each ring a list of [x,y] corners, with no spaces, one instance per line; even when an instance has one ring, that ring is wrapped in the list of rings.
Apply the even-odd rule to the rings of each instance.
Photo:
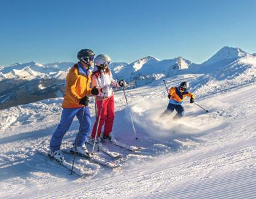
[[[71,148],[63,149],[61,151],[66,154],[74,154],[74,151]],[[87,156],[87,155],[80,154],[80,153],[76,153],[76,155],[81,158],[87,158],[88,160],[91,160],[91,162],[94,162],[96,164],[101,164],[102,166],[107,166],[109,168],[117,168],[117,167],[121,166],[121,164],[118,164],[117,162],[109,162],[109,161],[103,160],[102,158],[99,158],[99,156],[95,156],[95,155]]]

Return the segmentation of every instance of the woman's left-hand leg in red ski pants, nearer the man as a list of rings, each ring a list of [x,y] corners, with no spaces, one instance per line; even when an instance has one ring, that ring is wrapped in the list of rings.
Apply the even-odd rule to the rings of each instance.
[[[96,102],[97,103],[97,121],[99,120],[99,115],[101,114],[101,120],[99,121],[99,128],[98,128],[98,133],[97,137],[101,136],[101,128],[103,124],[105,123],[106,116],[107,116],[107,99],[104,101],[99,100]],[[103,109],[101,112],[101,106],[103,105]],[[96,128],[97,128],[97,121],[95,121],[93,125],[93,132],[91,132],[91,138],[95,138],[96,135]]]

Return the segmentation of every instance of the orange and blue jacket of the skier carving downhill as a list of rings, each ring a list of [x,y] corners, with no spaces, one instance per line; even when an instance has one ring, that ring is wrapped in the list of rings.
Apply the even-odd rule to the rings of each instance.
[[[176,105],[182,104],[185,97],[192,97],[195,99],[195,95],[193,95],[193,93],[189,93],[187,91],[181,93],[181,91],[179,91],[179,87],[171,87],[169,95],[171,95],[169,103]]]

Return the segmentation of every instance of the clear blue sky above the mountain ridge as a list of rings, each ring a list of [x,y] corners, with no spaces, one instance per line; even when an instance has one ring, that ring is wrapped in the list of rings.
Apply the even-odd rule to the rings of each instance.
[[[0,65],[76,61],[89,48],[131,63],[256,53],[255,0],[0,0]]]

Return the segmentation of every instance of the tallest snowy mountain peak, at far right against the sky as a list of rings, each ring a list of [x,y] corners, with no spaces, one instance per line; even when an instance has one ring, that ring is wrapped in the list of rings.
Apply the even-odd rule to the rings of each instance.
[[[246,53],[242,49],[226,46],[220,49],[215,55],[213,55],[213,57],[205,61],[205,63],[203,64],[208,65],[217,61],[221,61],[223,59],[245,57],[246,55],[249,55],[249,53]]]

